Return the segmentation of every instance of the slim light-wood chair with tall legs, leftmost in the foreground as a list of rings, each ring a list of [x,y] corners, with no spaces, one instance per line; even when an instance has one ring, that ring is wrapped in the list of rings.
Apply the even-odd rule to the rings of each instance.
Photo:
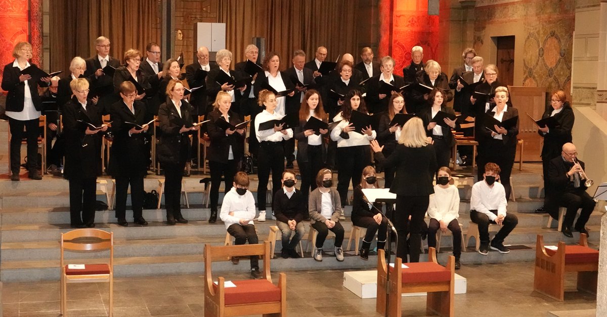
[[[109,261],[84,264],[84,269],[70,268],[64,261],[64,252],[103,252],[109,250]],[[61,315],[67,313],[68,283],[109,283],[109,315],[114,310],[114,233],[99,229],[76,229],[61,233]]]

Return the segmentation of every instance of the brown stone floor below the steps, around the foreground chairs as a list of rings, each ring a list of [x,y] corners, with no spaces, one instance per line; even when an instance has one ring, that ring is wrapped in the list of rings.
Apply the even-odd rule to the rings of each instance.
[[[325,261],[333,259],[327,258]],[[295,261],[295,260],[293,260]],[[246,261],[242,269],[246,270]],[[596,298],[565,281],[565,302],[532,291],[533,264],[464,265],[467,293],[455,295],[455,316],[546,316],[550,311],[595,309]],[[289,272],[289,316],[379,316],[375,299],[360,299],[342,287],[339,270]],[[243,279],[246,275],[226,275]],[[274,282],[277,276],[273,275]],[[70,316],[107,316],[107,284],[68,285]],[[198,275],[120,278],[114,282],[114,316],[203,316],[203,280]],[[4,317],[58,316],[59,282],[7,283]],[[426,316],[426,296],[402,299],[402,316]]]

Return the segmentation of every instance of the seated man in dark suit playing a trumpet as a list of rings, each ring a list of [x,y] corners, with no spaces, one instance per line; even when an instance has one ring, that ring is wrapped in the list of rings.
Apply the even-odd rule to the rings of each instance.
[[[585,179],[582,175],[585,170],[584,162],[577,159],[577,150],[573,143],[563,144],[561,156],[550,161],[548,167],[548,180],[552,190],[551,201],[558,203],[559,206],[567,208],[565,219],[563,219],[563,235],[573,238],[571,227],[575,220],[578,209],[582,209],[580,217],[575,223],[575,231],[586,233],[586,222],[590,218],[596,202],[588,193],[586,193]],[[544,176],[545,177],[545,176]],[[556,210],[556,209],[548,209]],[[552,214],[552,218],[558,219],[558,215]]]

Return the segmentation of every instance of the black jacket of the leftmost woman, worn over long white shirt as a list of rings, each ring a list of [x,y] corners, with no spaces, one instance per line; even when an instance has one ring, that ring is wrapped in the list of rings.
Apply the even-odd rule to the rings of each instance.
[[[35,64],[30,64],[30,66],[35,66]],[[21,70],[19,70],[19,67],[13,67],[13,62],[4,66],[4,72],[2,73],[2,89],[7,91],[6,111],[23,111],[25,102],[25,82],[19,81],[19,76],[21,76]],[[42,99],[40,99],[40,95],[38,95],[38,85],[40,87],[47,87],[50,85],[50,82],[41,81],[39,78],[32,78],[27,84],[30,87],[34,107],[36,110],[41,111]]]

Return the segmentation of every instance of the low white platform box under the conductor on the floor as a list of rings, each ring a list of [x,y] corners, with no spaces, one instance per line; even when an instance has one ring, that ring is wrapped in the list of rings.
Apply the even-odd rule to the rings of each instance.
[[[378,285],[378,272],[372,271],[352,271],[344,272],[344,287],[360,298],[376,298]],[[465,294],[467,289],[467,280],[461,275],[455,275],[455,293]],[[421,296],[426,293],[409,293],[402,296]]]

